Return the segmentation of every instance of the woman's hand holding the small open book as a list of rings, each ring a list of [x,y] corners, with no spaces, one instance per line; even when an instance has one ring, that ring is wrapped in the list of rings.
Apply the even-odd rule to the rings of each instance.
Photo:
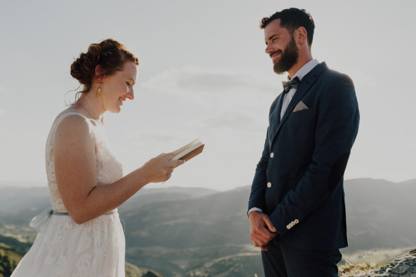
[[[173,169],[183,161],[171,161],[175,155],[173,153],[163,153],[153,159],[150,159],[143,166],[144,177],[148,183],[159,183],[167,181],[173,172]]]

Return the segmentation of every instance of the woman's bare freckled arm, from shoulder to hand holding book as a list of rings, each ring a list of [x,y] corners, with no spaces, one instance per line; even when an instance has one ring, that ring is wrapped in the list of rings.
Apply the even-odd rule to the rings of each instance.
[[[121,179],[97,186],[94,134],[81,116],[67,116],[56,129],[53,155],[56,183],[75,223],[81,224],[124,203],[148,183],[169,179],[182,161],[169,161],[172,153],[149,160]]]

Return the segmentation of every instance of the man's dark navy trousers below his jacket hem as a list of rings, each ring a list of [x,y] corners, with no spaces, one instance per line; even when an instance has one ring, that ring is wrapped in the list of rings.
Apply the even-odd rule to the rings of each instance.
[[[336,277],[342,254],[339,250],[297,249],[274,239],[261,251],[266,277]]]

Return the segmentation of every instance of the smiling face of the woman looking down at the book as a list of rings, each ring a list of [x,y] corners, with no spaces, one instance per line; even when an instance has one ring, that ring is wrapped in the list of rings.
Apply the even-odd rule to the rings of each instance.
[[[127,61],[123,70],[103,78],[100,92],[105,110],[118,113],[126,99],[133,100],[136,76],[137,66]]]

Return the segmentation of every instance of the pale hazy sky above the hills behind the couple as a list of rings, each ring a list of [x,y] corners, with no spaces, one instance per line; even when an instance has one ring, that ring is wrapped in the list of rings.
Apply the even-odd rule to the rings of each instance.
[[[345,177],[416,178],[414,1],[3,1],[0,185],[46,186],[45,141],[78,82],[73,58],[115,38],[140,60],[135,100],[105,125],[125,173],[200,138],[204,152],[163,186],[250,185],[286,75],[264,53],[262,17],[315,21],[312,54],[355,84],[360,130]],[[74,92],[66,95],[72,101]],[[152,185],[160,187],[161,184]]]

